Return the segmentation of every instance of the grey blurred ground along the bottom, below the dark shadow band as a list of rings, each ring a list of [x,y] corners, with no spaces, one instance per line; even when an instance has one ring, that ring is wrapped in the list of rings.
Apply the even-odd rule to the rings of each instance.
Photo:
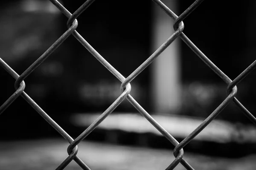
[[[55,170],[67,158],[64,139],[0,142],[0,170]],[[78,156],[91,170],[164,170],[174,160],[172,150],[81,142]],[[255,170],[256,155],[239,159],[209,157],[185,150],[195,170]],[[184,170],[179,164],[175,170]],[[72,161],[66,170],[81,170]]]

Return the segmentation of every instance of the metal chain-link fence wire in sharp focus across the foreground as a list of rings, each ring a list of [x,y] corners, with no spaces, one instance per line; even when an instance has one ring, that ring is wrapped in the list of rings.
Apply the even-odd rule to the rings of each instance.
[[[218,116],[219,113],[231,102],[233,101],[244,113],[248,119],[250,119],[255,125],[256,125],[256,118],[239,102],[238,99],[236,99],[236,93],[237,93],[237,87],[236,85],[246,77],[250,71],[252,71],[256,66],[256,61],[254,61],[248,68],[246,68],[236,79],[233,81],[227,77],[214,63],[212,63],[194,44],[189,40],[188,37],[183,33],[184,24],[183,20],[192,13],[195,8],[197,8],[203,0],[196,0],[189,8],[187,8],[179,17],[173,13],[169,7],[167,7],[164,3],[162,3],[160,0],[153,0],[163,11],[166,12],[166,14],[169,15],[174,22],[174,30],[175,33],[172,34],[171,37],[166,40],[166,42],[161,45],[157,51],[155,51],[148,59],[143,62],[136,70],[134,70],[128,77],[122,76],[113,66],[108,63],[107,60],[104,59],[84,38],[76,31],[76,28],[78,26],[77,18],[79,15],[88,8],[94,0],[87,0],[80,8],[78,8],[73,14],[71,14],[64,6],[61,5],[57,0],[50,0],[67,18],[67,31],[58,38],[58,40],[51,45],[51,47],[44,52],[44,54],[41,55],[32,65],[29,66],[29,68],[26,69],[21,75],[18,75],[9,65],[6,64],[6,62],[3,61],[3,59],[0,58],[0,65],[9,73],[12,75],[13,78],[16,79],[15,81],[15,93],[12,94],[12,96],[9,97],[9,99],[6,100],[6,102],[3,103],[0,107],[0,114],[5,111],[6,108],[8,108],[12,102],[15,101],[19,96],[22,96],[23,99],[26,100],[26,102],[29,103],[29,105],[32,106],[52,127],[55,128],[55,130],[58,131],[66,140],[70,143],[69,147],[67,148],[67,159],[65,159],[58,167],[57,170],[64,169],[72,160],[76,161],[79,166],[84,170],[90,170],[90,168],[83,162],[83,160],[79,159],[76,154],[78,153],[78,144],[88,135],[90,134],[111,112],[115,110],[115,108],[125,99],[127,99],[134,108],[137,109],[144,117],[148,120],[157,130],[160,131],[160,133],[163,134],[163,136],[166,137],[166,139],[169,140],[174,146],[175,149],[173,151],[173,154],[175,156],[175,160],[172,161],[172,163],[169,165],[169,167],[166,168],[166,170],[174,169],[177,164],[182,164],[187,170],[193,170],[193,167],[190,166],[190,164],[183,158],[183,147],[186,146],[195,136],[198,135],[207,125],[209,125],[210,122],[212,122],[213,119],[215,119],[216,116]],[[107,110],[104,111],[104,113],[101,114],[86,130],[84,130],[83,133],[81,133],[76,139],[73,139],[70,137],[68,133],[66,133],[50,116],[47,115],[47,113],[44,112],[40,106],[37,105],[36,102],[31,99],[29,95],[27,95],[24,91],[25,89],[25,82],[24,79],[29,76],[39,65],[44,62],[47,57],[49,57],[53,51],[58,48],[59,45],[61,45],[62,42],[64,42],[67,37],[70,35],[73,35],[102,65],[104,65],[108,71],[110,71],[119,81],[121,82],[121,92],[122,94],[115,100],[115,102],[112,103],[111,106],[108,107]],[[143,107],[140,106],[140,104],[130,95],[131,91],[131,85],[130,82],[137,77],[148,65],[151,64],[151,62],[154,61],[155,58],[157,58],[177,37],[180,37],[186,45],[189,46],[189,48],[192,49],[192,51],[195,52],[195,54],[198,55],[200,59],[202,59],[205,64],[209,66],[209,68],[212,69],[221,79],[227,83],[227,98],[224,99],[224,101],[213,111],[207,119],[205,119],[201,125],[199,125],[195,130],[193,130],[192,133],[189,134],[182,142],[177,142],[177,140],[168,133],[160,124],[158,124],[151,116],[143,109]],[[86,161],[86,160],[84,160]]]

